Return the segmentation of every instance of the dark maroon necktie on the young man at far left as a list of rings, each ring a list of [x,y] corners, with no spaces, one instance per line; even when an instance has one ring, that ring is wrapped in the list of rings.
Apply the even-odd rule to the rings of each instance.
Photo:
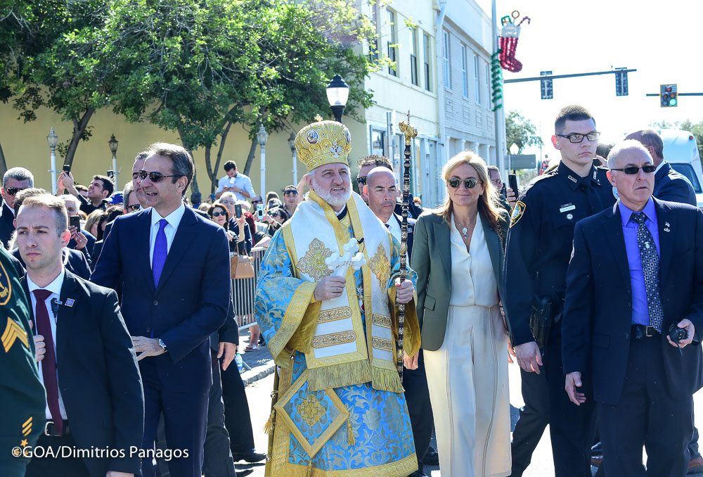
[[[51,322],[49,321],[49,311],[46,310],[46,298],[51,296],[51,291],[38,288],[32,291],[34,298],[37,298],[37,307],[34,309],[34,319],[37,321],[37,333],[44,336],[44,346],[46,353],[44,360],[41,360],[41,376],[44,378],[44,388],[46,388],[46,403],[49,405],[53,426],[61,435],[63,432],[63,419],[58,407],[58,379],[56,378],[56,353],[54,352],[53,333],[51,333]]]

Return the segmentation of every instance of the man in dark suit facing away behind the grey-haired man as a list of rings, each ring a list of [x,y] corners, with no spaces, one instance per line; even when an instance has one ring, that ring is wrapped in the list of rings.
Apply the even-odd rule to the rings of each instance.
[[[657,166],[654,174],[654,191],[652,196],[662,201],[681,202],[696,205],[696,193],[685,175],[679,174],[668,161],[664,160],[664,141],[652,129],[628,134],[625,139],[634,139],[642,143],[652,156],[652,161]]]

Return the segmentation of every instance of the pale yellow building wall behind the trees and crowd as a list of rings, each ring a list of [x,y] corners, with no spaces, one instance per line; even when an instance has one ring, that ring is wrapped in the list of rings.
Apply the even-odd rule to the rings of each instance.
[[[325,119],[331,119],[329,110],[321,111]],[[9,104],[0,104],[0,144],[5,153],[7,166],[27,167],[34,174],[34,183],[38,187],[43,187],[51,191],[51,176],[47,172],[49,163],[49,146],[46,144],[46,135],[53,127],[58,134],[60,143],[66,141],[72,132],[71,122],[62,121],[60,116],[49,109],[42,108],[37,111],[37,120],[24,123],[18,120],[18,113]],[[311,119],[311,122],[314,119]],[[352,132],[352,154],[349,156],[349,163],[354,169],[356,161],[366,155],[366,126],[354,121],[349,117],[344,117],[344,122]],[[119,141],[117,148],[117,170],[122,168],[122,174],[117,176],[117,185],[122,189],[124,182],[131,179],[131,165],[134,156],[139,151],[143,151],[149,144],[156,141],[167,141],[180,144],[177,134],[167,132],[148,123],[130,124],[125,122],[120,116],[113,114],[110,110],[98,110],[89,123],[93,127],[93,136],[87,142],[81,142],[76,151],[73,161],[72,173],[77,182],[88,184],[93,174],[105,174],[108,169],[112,169],[112,153],[108,148],[110,134],[115,134]],[[297,127],[299,129],[302,126]],[[279,132],[269,135],[266,144],[266,189],[267,191],[280,192],[285,186],[292,183],[292,158],[288,147],[290,131]],[[355,140],[356,138],[356,140]],[[243,172],[249,153],[250,141],[241,125],[233,125],[229,132],[222,158],[225,160],[235,160],[240,171]],[[217,149],[213,149],[214,155]],[[201,150],[193,151],[198,177],[198,186],[203,196],[209,193],[209,179],[205,170],[205,153]],[[56,158],[56,167],[60,170],[63,166],[63,159]],[[298,162],[298,179],[301,179],[306,172],[305,166]],[[260,150],[254,155],[250,178],[254,185],[254,191],[261,193],[260,189]],[[355,174],[355,173],[354,173]],[[224,176],[224,170],[220,165],[218,177]],[[188,191],[190,196],[190,191]]]

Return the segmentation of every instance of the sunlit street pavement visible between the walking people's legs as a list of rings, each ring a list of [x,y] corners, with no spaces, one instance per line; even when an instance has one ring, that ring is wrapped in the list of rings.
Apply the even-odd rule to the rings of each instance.
[[[243,336],[242,346],[244,349],[247,345],[248,337]],[[261,348],[253,352],[243,354],[245,362],[252,365],[251,371],[245,371],[242,378],[247,383],[247,400],[252,416],[252,426],[254,428],[254,443],[257,450],[266,452],[268,446],[268,435],[262,430],[264,423],[269,419],[271,412],[271,390],[273,389],[273,361],[271,355],[266,348]],[[252,379],[254,376],[262,376],[260,379]],[[509,365],[508,376],[510,379],[510,424],[511,430],[515,427],[515,422],[518,418],[518,409],[524,404],[522,401],[522,393],[520,392],[520,369],[517,364]],[[694,401],[698,409],[703,409],[703,393],[699,392],[694,395]],[[701,404],[698,404],[701,402]],[[696,426],[700,429],[703,427],[703,413],[696,414]],[[437,447],[437,443],[432,440],[432,446]],[[643,454],[646,459],[646,455]],[[246,464],[241,462],[236,465],[237,470],[254,469],[252,477],[264,477],[264,463]],[[592,468],[595,476],[595,467]],[[440,477],[441,473],[437,466],[425,466],[425,473],[432,477]],[[547,426],[542,439],[539,441],[537,448],[532,455],[532,462],[522,474],[524,477],[550,477],[554,475],[554,467],[552,461],[552,450],[549,442],[549,426]],[[703,477],[703,473],[697,474]]]

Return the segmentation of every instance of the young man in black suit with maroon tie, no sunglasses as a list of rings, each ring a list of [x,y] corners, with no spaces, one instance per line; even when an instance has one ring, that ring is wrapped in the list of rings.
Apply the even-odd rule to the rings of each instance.
[[[18,246],[27,266],[34,341],[44,343],[39,376],[46,388],[44,434],[27,476],[127,477],[139,472],[144,398],[136,355],[114,291],[63,266],[70,239],[63,201],[25,199],[17,215]],[[74,451],[70,456],[62,449]]]

